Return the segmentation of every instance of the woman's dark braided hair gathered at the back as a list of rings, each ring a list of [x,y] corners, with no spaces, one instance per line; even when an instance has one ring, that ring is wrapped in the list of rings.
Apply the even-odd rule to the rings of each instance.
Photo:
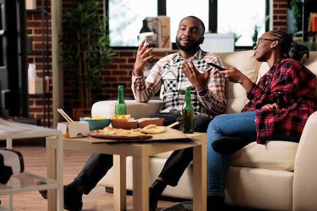
[[[284,59],[293,58],[300,60],[305,54],[306,59],[309,58],[309,49],[304,45],[299,45],[293,40],[292,36],[286,31],[274,30],[270,31],[271,35],[280,41],[282,49],[282,57]]]

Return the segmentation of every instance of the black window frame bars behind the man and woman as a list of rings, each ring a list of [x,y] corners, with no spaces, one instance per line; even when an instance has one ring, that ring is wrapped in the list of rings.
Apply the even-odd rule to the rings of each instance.
[[[265,0],[266,2],[266,9],[265,9],[265,16],[269,15],[269,4],[270,0]],[[109,14],[109,0],[105,0],[105,14]],[[218,0],[209,0],[209,28],[208,31],[211,33],[216,33],[218,28]],[[157,0],[157,15],[165,15],[166,16],[166,0]],[[265,21],[265,31],[269,30],[269,19]],[[109,33],[109,20],[106,19],[106,32]],[[138,49],[138,47],[118,47],[118,46],[110,46],[113,50],[120,50],[120,49]],[[246,49],[252,48],[252,46],[237,46],[236,49]],[[176,50],[177,46],[176,43],[172,43],[172,49]]]

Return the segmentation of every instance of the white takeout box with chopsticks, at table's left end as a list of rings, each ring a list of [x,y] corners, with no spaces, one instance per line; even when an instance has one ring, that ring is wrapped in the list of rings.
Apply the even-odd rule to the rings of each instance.
[[[74,121],[75,123],[58,122],[57,130],[62,131],[63,138],[85,137],[90,133],[87,121]]]

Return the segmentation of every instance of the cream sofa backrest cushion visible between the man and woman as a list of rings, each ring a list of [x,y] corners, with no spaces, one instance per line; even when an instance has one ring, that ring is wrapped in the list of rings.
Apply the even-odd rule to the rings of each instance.
[[[215,54],[221,58],[224,66],[235,67],[253,82],[256,81],[261,63],[256,61],[253,50]],[[227,100],[225,113],[241,112],[242,108],[249,102],[246,93],[239,83],[232,83],[227,80],[225,84]]]

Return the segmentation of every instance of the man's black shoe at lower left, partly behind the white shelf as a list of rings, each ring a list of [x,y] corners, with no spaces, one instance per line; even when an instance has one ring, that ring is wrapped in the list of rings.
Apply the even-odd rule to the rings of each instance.
[[[45,182],[39,181],[37,185],[46,184]],[[42,197],[47,199],[47,190],[39,190]],[[64,209],[70,211],[78,211],[83,208],[82,196],[84,193],[83,185],[79,181],[71,183],[69,185],[64,185]]]

